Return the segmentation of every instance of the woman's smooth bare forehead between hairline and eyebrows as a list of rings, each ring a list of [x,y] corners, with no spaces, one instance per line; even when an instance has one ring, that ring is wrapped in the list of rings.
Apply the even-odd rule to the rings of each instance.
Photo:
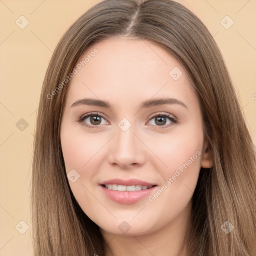
[[[195,96],[180,62],[148,40],[113,37],[94,43],[75,68],[77,74],[68,85],[67,100],[93,96],[108,101],[129,99],[133,104],[141,97],[168,94],[188,100]]]

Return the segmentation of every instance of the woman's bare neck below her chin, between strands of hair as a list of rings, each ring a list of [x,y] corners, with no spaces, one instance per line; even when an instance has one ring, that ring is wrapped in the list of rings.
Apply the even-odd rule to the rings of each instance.
[[[105,256],[161,255],[187,256],[184,243],[191,218],[191,202],[179,216],[163,228],[139,236],[115,235],[101,230],[106,241]]]

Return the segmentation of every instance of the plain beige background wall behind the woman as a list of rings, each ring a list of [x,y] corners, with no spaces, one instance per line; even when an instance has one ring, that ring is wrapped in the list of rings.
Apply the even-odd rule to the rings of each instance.
[[[100,0],[0,0],[0,255],[32,255],[30,181],[40,90],[66,29]],[[208,27],[256,141],[256,0],[180,0]],[[20,16],[29,24],[20,29]],[[222,26],[234,24],[226,29]],[[222,24],[220,23],[221,20]],[[24,25],[25,20],[22,19]],[[25,119],[23,131],[16,126]],[[22,124],[22,121],[20,121]],[[21,125],[19,124],[19,125]],[[25,224],[29,229],[25,231]],[[16,227],[16,228],[15,228]]]

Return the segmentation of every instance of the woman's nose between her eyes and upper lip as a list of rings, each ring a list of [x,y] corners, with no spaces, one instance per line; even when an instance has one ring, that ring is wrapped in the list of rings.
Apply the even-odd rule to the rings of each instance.
[[[146,146],[138,138],[133,126],[126,131],[117,127],[116,131],[117,134],[112,139],[108,154],[109,162],[112,165],[118,165],[122,169],[143,165]]]

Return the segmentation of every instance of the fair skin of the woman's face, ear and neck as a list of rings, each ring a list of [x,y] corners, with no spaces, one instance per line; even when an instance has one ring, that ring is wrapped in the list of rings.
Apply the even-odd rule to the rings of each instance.
[[[60,135],[66,172],[75,169],[80,175],[76,182],[69,181],[71,190],[82,210],[100,227],[109,246],[107,256],[188,255],[185,249],[180,251],[190,223],[191,198],[200,167],[212,166],[199,101],[189,77],[173,56],[150,41],[109,38],[87,48],[78,62],[95,48],[97,55],[68,84],[63,109]],[[174,67],[183,73],[177,80],[169,75]],[[85,97],[106,100],[111,109],[72,106]],[[166,97],[187,107],[140,108],[144,100]],[[103,115],[96,124],[90,117],[77,121],[94,112]],[[157,121],[161,113],[175,117],[177,123],[165,118],[162,126]],[[123,118],[131,124],[127,131],[118,126]],[[133,204],[117,203],[99,186],[112,178],[137,178],[157,184],[156,192],[196,152],[200,154],[197,159],[153,202],[146,197]],[[130,226],[126,233],[118,228],[123,221]]]

